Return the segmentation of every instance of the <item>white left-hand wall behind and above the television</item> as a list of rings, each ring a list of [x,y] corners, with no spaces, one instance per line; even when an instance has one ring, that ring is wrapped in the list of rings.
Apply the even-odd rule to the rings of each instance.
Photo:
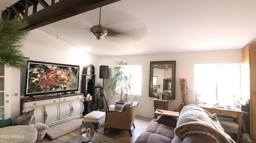
[[[79,85],[81,85],[82,70],[84,66],[94,65],[98,67],[98,57],[78,49],[64,41],[56,39],[42,31],[35,29],[30,31],[30,35],[24,43],[24,55],[33,61],[43,61],[50,63],[60,63],[69,65],[80,65]],[[96,73],[97,73],[96,68]],[[11,117],[13,120],[20,116],[20,97],[24,96],[25,70],[12,70],[12,93],[18,96],[11,98]],[[81,92],[81,86],[79,87]]]

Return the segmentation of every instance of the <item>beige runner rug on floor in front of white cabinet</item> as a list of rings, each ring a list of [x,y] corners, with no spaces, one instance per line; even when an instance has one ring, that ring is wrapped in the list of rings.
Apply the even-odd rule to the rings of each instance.
[[[51,139],[57,139],[78,130],[81,125],[82,121],[80,119],[71,119],[69,121],[50,126],[46,131],[46,135]]]

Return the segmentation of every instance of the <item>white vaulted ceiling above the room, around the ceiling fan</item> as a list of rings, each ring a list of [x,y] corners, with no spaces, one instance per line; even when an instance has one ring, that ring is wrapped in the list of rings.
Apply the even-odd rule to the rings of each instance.
[[[47,0],[46,0],[47,1]],[[1,0],[0,10],[16,0]],[[255,0],[121,0],[38,28],[97,56],[242,49],[256,44]]]

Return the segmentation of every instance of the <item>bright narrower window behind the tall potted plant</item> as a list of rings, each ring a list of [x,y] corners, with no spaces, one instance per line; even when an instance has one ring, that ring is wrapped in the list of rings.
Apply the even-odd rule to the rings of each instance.
[[[131,89],[128,94],[141,95],[142,67],[141,65],[124,65],[124,73],[130,78]],[[132,77],[132,78],[131,78]]]

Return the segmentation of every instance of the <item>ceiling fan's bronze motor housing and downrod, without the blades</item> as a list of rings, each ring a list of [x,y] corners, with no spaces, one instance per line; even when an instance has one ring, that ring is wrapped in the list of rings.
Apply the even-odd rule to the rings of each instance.
[[[101,14],[101,7],[100,7],[100,14]],[[102,39],[104,36],[108,35],[110,33],[109,29],[106,29],[104,26],[100,24],[94,25],[93,27],[90,28],[90,31],[93,33],[93,35],[98,39]]]

